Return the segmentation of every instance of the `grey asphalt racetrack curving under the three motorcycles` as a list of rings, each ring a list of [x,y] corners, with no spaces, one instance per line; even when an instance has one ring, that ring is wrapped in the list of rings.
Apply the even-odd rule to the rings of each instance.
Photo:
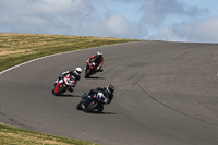
[[[53,96],[58,74],[102,51],[104,72]],[[140,41],[52,56],[0,75],[0,122],[104,145],[217,145],[218,45]],[[113,84],[104,113],[76,110],[83,93]]]

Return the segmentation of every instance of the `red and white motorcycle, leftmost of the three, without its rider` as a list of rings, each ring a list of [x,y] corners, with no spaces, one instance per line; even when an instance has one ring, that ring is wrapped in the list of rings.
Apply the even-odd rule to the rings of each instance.
[[[59,78],[58,83],[56,84],[52,93],[58,96],[66,90],[69,88],[72,88],[73,84],[75,83],[74,76],[68,74],[64,77]]]

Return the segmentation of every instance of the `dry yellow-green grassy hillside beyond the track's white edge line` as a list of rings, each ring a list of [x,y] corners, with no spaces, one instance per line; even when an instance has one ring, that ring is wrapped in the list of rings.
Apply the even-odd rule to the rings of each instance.
[[[135,39],[0,33],[0,71],[52,53],[128,41]]]

